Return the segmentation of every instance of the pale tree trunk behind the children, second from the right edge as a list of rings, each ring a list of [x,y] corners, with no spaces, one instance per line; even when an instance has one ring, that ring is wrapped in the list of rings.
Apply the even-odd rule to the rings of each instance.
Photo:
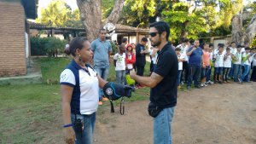
[[[243,43],[242,12],[232,18],[232,42]]]

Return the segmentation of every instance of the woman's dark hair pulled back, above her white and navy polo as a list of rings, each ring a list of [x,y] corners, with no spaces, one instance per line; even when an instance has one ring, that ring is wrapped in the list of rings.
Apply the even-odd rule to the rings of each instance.
[[[88,41],[84,37],[75,37],[73,40],[69,43],[69,47],[64,50],[64,53],[67,55],[73,55],[76,56],[76,50],[77,49],[83,49],[84,48],[84,42]]]

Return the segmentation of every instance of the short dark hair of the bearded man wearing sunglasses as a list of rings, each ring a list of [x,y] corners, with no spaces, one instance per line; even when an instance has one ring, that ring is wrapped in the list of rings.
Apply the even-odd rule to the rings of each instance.
[[[158,21],[150,24],[150,27],[154,27],[159,33],[166,32],[166,41],[168,41],[168,37],[170,35],[170,27],[165,21]]]

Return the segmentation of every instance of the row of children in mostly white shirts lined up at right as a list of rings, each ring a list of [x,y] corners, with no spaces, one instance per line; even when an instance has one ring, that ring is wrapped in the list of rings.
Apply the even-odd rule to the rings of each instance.
[[[236,43],[235,43],[236,44]],[[214,66],[213,81],[215,84],[227,84],[230,83],[230,71],[231,76],[234,78],[234,82],[249,82],[249,80],[256,82],[256,49],[252,51],[247,47],[242,49],[241,45],[237,48],[232,43],[232,47],[229,46],[224,49],[224,44],[219,43],[218,49],[212,50],[213,45],[207,43],[203,44],[202,51],[203,55],[201,58],[201,87],[207,86],[207,84],[212,84],[211,82],[211,72],[212,66]],[[178,58],[178,78],[177,85],[180,86],[180,78],[182,77],[181,53],[178,47],[175,49]],[[250,79],[251,64],[253,66],[253,72]],[[195,80],[195,79],[194,79]]]

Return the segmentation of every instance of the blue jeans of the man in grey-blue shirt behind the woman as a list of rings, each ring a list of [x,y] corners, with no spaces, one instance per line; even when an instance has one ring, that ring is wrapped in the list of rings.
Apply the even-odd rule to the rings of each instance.
[[[94,66],[97,74],[104,80],[107,80],[108,73],[109,73],[109,66]],[[100,89],[99,91],[99,100],[102,100],[102,95],[104,95],[103,90]]]

